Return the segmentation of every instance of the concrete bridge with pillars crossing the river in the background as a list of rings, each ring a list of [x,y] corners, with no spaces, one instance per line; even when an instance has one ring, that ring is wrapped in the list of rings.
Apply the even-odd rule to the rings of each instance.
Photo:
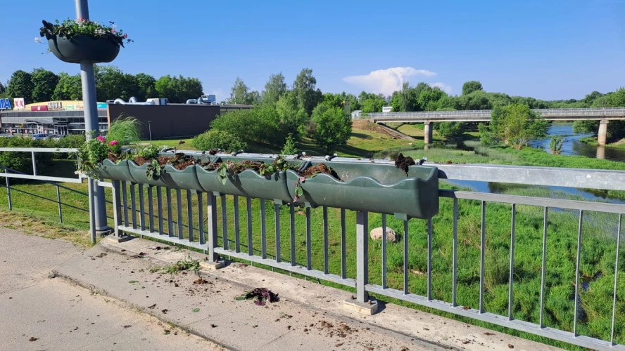
[[[605,145],[608,121],[625,119],[625,107],[586,109],[534,109],[539,116],[549,121],[600,121],[599,145]],[[381,112],[362,114],[361,119],[372,119],[374,123],[400,122],[424,123],[424,140],[431,143],[432,122],[488,122],[493,110],[474,111],[429,111],[429,112]]]

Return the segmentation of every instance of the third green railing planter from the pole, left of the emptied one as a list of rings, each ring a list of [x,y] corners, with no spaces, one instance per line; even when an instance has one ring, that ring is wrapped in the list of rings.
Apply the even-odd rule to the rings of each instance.
[[[213,160],[212,163],[226,161],[264,161],[271,164],[275,159],[267,158],[251,158],[236,156],[220,156]],[[226,184],[222,183],[221,178],[217,175],[217,170],[207,171],[201,166],[196,165],[198,180],[203,189],[207,192],[215,192],[218,194],[238,195],[244,197],[253,197],[257,199],[269,199],[279,201],[279,203],[291,202],[293,199],[289,194],[286,186],[286,172],[276,172],[270,177],[263,177],[258,172],[251,169],[228,176]]]

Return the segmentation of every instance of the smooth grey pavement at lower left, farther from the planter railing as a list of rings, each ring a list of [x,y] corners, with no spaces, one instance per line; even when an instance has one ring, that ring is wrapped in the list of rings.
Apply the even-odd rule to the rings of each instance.
[[[54,267],[84,253],[67,241],[0,227],[0,242],[0,350],[222,350],[111,298],[49,279]]]

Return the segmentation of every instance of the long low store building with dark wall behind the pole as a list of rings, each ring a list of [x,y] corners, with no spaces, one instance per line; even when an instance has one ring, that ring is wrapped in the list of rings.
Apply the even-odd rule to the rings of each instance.
[[[181,138],[198,135],[210,127],[217,115],[246,110],[251,105],[148,105],[146,102],[98,103],[100,131],[108,131],[111,121],[130,116],[141,121],[142,138]],[[1,133],[84,134],[82,101],[37,102],[23,111],[0,111]]]

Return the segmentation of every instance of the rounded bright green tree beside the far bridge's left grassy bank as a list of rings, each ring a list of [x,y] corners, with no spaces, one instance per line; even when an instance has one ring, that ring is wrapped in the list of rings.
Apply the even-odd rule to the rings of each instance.
[[[317,124],[313,139],[327,154],[345,145],[351,136],[351,118],[346,117],[340,107],[317,105],[313,110],[313,122]]]

